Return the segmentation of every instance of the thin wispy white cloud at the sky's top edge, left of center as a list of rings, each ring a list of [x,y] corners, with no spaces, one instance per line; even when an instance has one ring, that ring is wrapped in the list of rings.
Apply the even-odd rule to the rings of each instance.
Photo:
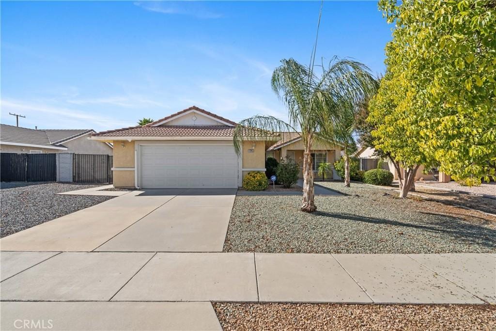
[[[222,17],[222,14],[206,9],[199,2],[136,1],[134,4],[145,10],[162,14],[180,14],[202,19]]]

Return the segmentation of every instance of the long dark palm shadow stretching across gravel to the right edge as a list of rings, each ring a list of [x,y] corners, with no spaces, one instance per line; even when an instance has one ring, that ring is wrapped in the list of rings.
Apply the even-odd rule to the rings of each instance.
[[[384,224],[384,225],[392,225],[398,227],[406,227],[406,228],[416,229],[419,231],[428,231],[433,233],[442,233],[457,240],[469,241],[471,243],[478,244],[487,248],[496,248],[495,229],[484,227],[479,224],[471,224],[451,216],[443,215],[442,217],[439,217],[439,215],[432,214],[432,215],[436,215],[439,218],[442,218],[435,221],[436,224],[434,225],[434,224],[428,224],[433,222],[429,222],[427,219],[423,219],[423,221],[426,222],[424,224],[421,223],[416,224],[416,223],[407,223],[407,222],[389,220],[385,218],[359,216],[349,213],[336,214],[325,211],[317,211],[315,212],[315,215],[344,219],[344,220],[352,220],[352,221],[364,222],[370,224]]]

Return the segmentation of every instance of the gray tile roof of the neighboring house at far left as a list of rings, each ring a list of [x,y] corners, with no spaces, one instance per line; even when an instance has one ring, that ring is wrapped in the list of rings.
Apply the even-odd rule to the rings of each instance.
[[[35,130],[0,124],[0,140],[46,146],[62,146],[62,142],[93,130]],[[64,147],[64,146],[62,146]]]

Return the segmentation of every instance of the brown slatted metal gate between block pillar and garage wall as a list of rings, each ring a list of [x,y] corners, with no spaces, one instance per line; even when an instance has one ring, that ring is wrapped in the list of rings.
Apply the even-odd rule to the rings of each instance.
[[[112,155],[74,154],[75,183],[112,183]]]

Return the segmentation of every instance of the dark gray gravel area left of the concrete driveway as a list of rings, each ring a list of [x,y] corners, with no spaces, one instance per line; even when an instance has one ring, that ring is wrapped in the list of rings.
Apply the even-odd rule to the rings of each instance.
[[[0,237],[114,198],[57,195],[57,193],[89,189],[100,185],[1,183],[0,186]]]

